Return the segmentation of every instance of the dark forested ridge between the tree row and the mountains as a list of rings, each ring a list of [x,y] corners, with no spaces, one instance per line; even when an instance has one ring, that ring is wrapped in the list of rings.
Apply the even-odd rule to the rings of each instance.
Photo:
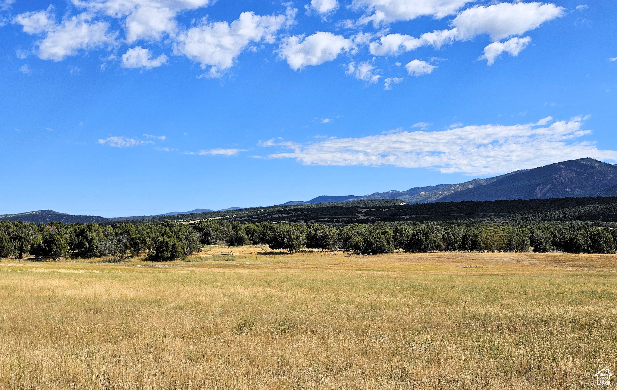
[[[360,200],[315,205],[271,206],[164,218],[176,222],[225,219],[237,222],[321,222],[350,224],[375,221],[514,222],[616,221],[617,197],[458,201],[404,204],[400,200]],[[163,218],[153,219],[162,221]]]

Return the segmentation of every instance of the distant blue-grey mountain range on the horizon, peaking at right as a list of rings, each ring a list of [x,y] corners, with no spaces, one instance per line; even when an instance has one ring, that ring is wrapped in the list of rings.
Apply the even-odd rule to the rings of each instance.
[[[355,200],[400,199],[407,204],[433,203],[436,201],[465,200],[515,200],[547,199],[565,197],[614,197],[617,196],[617,166],[592,158],[562,161],[561,163],[522,169],[487,179],[473,179],[460,184],[439,184],[426,187],[413,187],[407,191],[391,190],[368,195],[321,195],[308,201],[288,201],[286,205],[312,205],[315,203],[342,203]],[[241,209],[232,207],[227,211]],[[209,213],[210,209],[173,211],[158,216],[178,214]],[[20,214],[0,215],[0,220],[44,222],[110,222],[122,219],[141,219],[143,217],[72,216],[52,210],[30,211]]]

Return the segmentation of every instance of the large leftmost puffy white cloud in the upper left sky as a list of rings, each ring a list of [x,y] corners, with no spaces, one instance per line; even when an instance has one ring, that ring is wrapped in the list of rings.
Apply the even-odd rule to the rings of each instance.
[[[109,24],[93,22],[92,18],[93,15],[84,12],[56,23],[50,7],[44,11],[19,14],[14,22],[22,25],[25,33],[44,35],[35,43],[40,59],[60,61],[80,50],[114,44],[115,34],[107,31]]]

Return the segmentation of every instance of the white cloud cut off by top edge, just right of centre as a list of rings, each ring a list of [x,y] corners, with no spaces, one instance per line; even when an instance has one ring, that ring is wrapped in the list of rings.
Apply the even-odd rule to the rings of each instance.
[[[397,22],[412,20],[421,16],[442,18],[453,15],[469,0],[354,0],[352,7],[363,9],[366,14],[360,18],[360,23],[373,22],[375,27]]]

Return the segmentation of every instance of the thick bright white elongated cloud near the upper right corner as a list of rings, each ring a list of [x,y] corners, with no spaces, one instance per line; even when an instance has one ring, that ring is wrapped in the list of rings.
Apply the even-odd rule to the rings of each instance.
[[[488,34],[493,41],[522,35],[565,15],[563,7],[541,2],[502,2],[466,9],[452,21],[460,40]]]

